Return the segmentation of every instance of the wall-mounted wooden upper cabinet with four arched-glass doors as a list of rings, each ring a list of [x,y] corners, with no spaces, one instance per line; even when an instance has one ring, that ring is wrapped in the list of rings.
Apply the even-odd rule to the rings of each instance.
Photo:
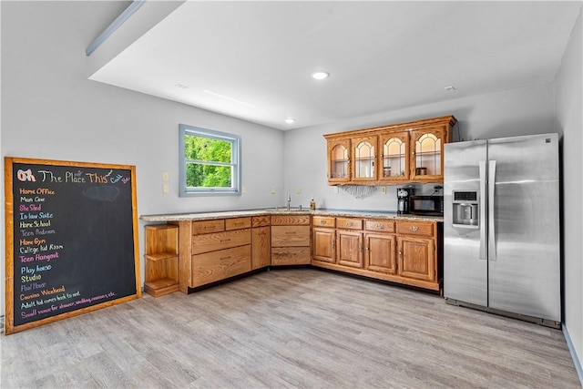
[[[444,144],[453,116],[324,135],[328,185],[392,185],[443,182]]]

